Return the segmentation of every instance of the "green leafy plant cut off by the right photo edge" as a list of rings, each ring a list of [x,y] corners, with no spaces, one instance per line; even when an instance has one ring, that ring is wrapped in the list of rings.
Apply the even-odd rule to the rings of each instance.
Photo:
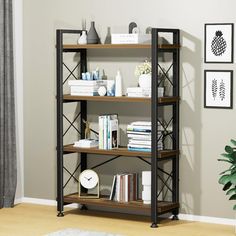
[[[225,146],[225,153],[222,153],[223,158],[218,161],[224,161],[230,164],[230,167],[220,173],[219,183],[224,185],[223,191],[229,196],[229,200],[236,200],[236,141],[231,139],[231,144]],[[233,207],[236,210],[236,204]]]

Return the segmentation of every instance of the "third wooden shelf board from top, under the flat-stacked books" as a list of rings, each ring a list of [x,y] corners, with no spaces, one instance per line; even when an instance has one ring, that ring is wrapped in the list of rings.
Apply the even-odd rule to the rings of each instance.
[[[121,155],[121,156],[142,156],[142,157],[151,157],[151,152],[137,152],[129,151],[127,148],[121,147],[117,149],[98,149],[98,148],[77,148],[72,144],[64,146],[64,152],[68,153],[88,153],[88,154],[97,154],[97,155]],[[167,158],[176,156],[179,154],[178,150],[163,150],[159,152],[159,158]]]

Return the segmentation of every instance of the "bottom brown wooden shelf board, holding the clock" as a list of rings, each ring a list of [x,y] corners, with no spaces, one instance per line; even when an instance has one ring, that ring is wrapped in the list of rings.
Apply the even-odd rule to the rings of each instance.
[[[86,205],[95,205],[112,208],[126,208],[134,210],[151,211],[151,205],[143,204],[141,200],[131,202],[116,202],[109,200],[108,197],[100,198],[79,198],[77,193],[64,196],[64,202],[66,203],[80,203]],[[158,201],[158,214],[166,213],[171,210],[179,208],[179,203]]]

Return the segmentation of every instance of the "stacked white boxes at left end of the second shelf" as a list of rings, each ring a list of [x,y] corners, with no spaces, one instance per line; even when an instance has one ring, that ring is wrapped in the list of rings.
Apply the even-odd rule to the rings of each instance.
[[[68,85],[73,96],[98,96],[98,89],[106,87],[106,80],[69,80]]]

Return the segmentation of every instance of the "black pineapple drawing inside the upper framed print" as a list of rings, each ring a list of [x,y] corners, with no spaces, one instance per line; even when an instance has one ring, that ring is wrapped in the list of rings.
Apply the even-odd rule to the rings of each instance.
[[[211,51],[215,56],[222,56],[225,53],[227,48],[227,44],[225,39],[223,38],[223,33],[218,30],[215,33],[215,37],[211,42]]]

